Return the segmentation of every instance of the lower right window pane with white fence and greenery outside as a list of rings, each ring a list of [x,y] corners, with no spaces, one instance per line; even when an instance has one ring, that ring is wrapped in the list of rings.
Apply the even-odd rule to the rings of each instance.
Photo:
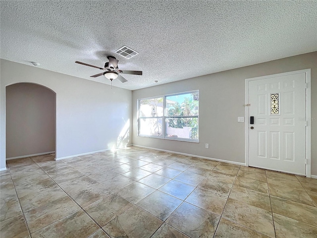
[[[166,118],[166,137],[198,140],[198,118]]]

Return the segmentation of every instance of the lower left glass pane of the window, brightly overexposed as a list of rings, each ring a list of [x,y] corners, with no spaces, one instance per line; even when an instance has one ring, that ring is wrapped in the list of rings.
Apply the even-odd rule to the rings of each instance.
[[[163,119],[161,118],[140,118],[140,135],[154,135],[162,136],[162,124]]]

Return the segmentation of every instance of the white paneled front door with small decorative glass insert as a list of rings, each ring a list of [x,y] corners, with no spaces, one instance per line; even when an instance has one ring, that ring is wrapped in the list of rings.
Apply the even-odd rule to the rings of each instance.
[[[306,73],[249,81],[250,166],[306,175],[305,84]]]

